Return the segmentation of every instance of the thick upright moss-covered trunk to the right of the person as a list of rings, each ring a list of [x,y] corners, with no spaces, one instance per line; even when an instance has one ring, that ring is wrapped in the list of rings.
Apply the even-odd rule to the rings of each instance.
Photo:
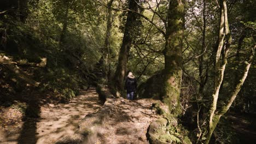
[[[179,113],[179,95],[182,81],[182,39],[184,5],[181,0],[170,1],[167,13],[165,69],[162,99],[171,112]]]

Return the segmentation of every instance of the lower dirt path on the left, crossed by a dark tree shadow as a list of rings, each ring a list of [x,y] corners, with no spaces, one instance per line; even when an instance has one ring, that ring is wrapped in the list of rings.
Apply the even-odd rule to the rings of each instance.
[[[25,122],[1,128],[0,143],[54,143],[61,137],[74,134],[78,122],[100,108],[96,91],[83,91],[68,104],[41,106],[39,118],[27,118]]]

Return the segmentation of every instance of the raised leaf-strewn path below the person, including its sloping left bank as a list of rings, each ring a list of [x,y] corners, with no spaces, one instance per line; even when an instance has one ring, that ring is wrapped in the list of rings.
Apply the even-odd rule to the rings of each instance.
[[[65,137],[60,143],[149,143],[147,129],[160,117],[152,109],[153,103],[162,105],[153,99],[107,98],[101,110],[82,119],[77,136]]]

